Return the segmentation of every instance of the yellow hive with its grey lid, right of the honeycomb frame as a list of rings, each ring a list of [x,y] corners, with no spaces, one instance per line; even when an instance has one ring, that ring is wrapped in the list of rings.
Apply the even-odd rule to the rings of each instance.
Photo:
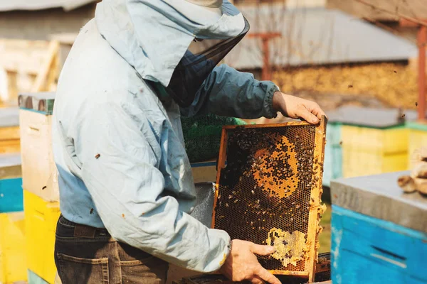
[[[402,117],[404,116],[404,117]],[[344,178],[408,169],[408,129],[415,111],[341,107],[330,113],[339,121]]]

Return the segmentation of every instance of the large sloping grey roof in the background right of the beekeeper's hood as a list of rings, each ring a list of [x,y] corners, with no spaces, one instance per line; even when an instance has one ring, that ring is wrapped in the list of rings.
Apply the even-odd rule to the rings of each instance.
[[[408,40],[341,11],[274,4],[238,8],[251,24],[249,33],[281,33],[269,44],[275,66],[408,60],[418,54]],[[243,38],[225,62],[239,69],[262,67],[260,38]]]

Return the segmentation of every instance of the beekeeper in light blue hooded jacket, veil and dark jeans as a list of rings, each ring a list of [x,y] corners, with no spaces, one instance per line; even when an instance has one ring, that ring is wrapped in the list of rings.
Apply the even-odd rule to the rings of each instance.
[[[255,254],[189,215],[196,195],[180,115],[278,111],[317,124],[314,102],[218,65],[249,25],[224,0],[103,0],[58,82],[53,151],[63,284],[164,283],[168,263],[231,280],[280,281]]]

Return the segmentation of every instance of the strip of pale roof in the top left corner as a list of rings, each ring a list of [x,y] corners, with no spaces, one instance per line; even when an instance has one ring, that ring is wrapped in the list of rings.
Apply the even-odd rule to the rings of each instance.
[[[65,11],[70,11],[95,1],[97,0],[0,0],[0,11],[35,11],[51,8],[63,8]]]

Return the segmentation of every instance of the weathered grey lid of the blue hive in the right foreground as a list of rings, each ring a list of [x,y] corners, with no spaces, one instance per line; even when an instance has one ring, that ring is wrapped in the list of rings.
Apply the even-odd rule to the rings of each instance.
[[[332,204],[427,233],[427,198],[397,185],[408,171],[331,182]]]

